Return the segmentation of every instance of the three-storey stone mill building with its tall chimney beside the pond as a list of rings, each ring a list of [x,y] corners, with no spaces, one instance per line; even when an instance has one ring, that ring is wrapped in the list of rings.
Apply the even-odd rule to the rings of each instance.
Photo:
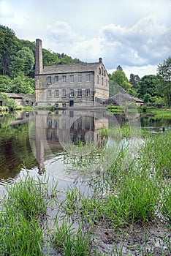
[[[56,108],[95,107],[96,98],[109,97],[109,77],[102,63],[59,64],[42,67],[42,41],[36,40],[36,105]]]

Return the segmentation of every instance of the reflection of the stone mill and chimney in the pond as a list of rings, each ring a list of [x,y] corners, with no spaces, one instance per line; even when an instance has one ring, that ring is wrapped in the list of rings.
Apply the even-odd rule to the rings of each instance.
[[[57,110],[56,113],[34,113],[37,161],[43,166],[45,156],[61,151],[63,143],[90,141],[96,146],[104,145],[99,131],[108,127],[105,112]]]

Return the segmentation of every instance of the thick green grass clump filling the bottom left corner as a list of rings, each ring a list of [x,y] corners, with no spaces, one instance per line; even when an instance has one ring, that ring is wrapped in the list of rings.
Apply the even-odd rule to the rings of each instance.
[[[56,187],[50,192],[47,181],[27,174],[6,190],[0,212],[0,255],[43,255],[43,220]]]

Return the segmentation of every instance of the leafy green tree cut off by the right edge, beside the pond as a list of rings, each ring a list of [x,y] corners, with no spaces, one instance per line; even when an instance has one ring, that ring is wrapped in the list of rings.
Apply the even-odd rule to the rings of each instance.
[[[169,56],[163,63],[158,65],[157,91],[164,97],[167,107],[171,106],[171,57]]]

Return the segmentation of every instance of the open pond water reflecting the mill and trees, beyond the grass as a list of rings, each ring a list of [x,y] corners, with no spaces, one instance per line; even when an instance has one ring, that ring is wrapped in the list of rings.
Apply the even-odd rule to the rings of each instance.
[[[170,119],[139,119],[136,117],[136,121],[129,124],[146,127],[152,132],[162,132],[162,127],[171,129]],[[90,141],[96,148],[103,148],[111,140],[105,136],[102,138],[99,131],[112,125],[120,127],[126,122],[128,118],[125,116],[111,116],[102,110],[33,111],[0,116],[0,189],[4,184],[15,181],[24,170],[29,170],[31,175],[48,173],[58,180],[59,187],[85,181],[89,176],[88,168],[85,171],[84,168],[78,170],[73,167],[68,155],[76,150],[75,154],[83,154],[84,159],[94,157],[91,156],[91,148],[83,147],[80,152],[76,145]],[[69,148],[71,143],[72,148]],[[100,168],[103,166],[91,163],[89,171],[100,171]]]

